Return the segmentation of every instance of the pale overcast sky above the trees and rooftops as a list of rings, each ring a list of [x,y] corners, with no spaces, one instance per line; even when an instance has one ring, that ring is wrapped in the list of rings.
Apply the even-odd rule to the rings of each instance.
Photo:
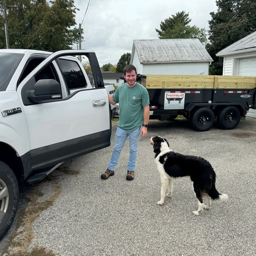
[[[176,12],[189,12],[190,25],[209,29],[215,0],[74,0],[80,10],[76,23],[82,24],[82,49],[93,49],[100,66],[116,64],[121,55],[131,52],[133,40],[157,39],[155,29]],[[88,6],[89,3],[89,6]],[[88,8],[87,8],[88,6]],[[87,9],[87,12],[86,12]],[[86,13],[86,15],[85,15]],[[85,15],[85,16],[84,16]],[[77,46],[73,46],[77,48]]]

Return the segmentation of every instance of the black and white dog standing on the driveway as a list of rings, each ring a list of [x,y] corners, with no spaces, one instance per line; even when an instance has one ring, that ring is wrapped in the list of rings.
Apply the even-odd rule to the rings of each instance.
[[[155,162],[161,178],[161,199],[158,205],[163,205],[165,195],[172,196],[173,179],[189,176],[198,199],[198,210],[193,211],[199,215],[203,209],[209,209],[211,200],[227,201],[228,196],[220,194],[215,188],[216,174],[211,164],[201,157],[183,155],[169,149],[169,143],[160,136],[150,138],[154,145]],[[168,192],[166,193],[166,187]],[[203,203],[205,198],[206,205]]]

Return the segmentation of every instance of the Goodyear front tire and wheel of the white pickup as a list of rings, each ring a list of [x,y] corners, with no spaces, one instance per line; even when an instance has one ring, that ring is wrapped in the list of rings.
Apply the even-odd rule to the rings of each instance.
[[[12,169],[0,161],[0,239],[11,227],[17,212],[19,187]]]

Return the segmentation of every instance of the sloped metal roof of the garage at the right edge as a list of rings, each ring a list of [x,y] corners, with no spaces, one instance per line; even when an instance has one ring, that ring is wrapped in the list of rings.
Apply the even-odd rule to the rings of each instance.
[[[235,55],[256,51],[256,31],[219,51],[216,56]]]

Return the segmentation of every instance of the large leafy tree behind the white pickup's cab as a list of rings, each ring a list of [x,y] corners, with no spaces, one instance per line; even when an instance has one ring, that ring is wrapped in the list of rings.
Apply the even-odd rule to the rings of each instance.
[[[73,0],[7,0],[11,48],[55,52],[72,49],[78,43],[76,10]],[[0,20],[0,48],[6,47],[3,18]]]

